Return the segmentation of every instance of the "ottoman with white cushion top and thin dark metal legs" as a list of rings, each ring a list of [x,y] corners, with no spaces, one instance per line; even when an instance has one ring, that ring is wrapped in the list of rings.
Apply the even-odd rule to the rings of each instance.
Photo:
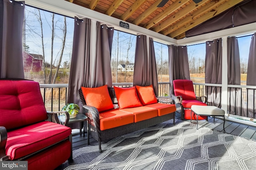
[[[196,114],[196,129],[198,129],[198,116],[213,116],[213,121],[215,123],[215,116],[222,116],[224,119],[223,123],[223,130],[225,132],[225,111],[216,107],[216,106],[198,106],[198,105],[192,105],[191,106],[191,117],[192,117],[192,112]],[[190,119],[190,122],[192,119]]]

